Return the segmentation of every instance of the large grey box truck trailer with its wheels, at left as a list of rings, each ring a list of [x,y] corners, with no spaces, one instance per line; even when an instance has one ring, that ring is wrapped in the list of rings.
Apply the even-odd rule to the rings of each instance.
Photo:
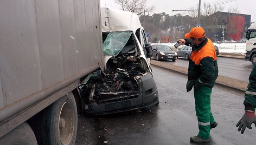
[[[100,1],[1,1],[0,34],[0,144],[75,144],[81,78],[103,65]]]

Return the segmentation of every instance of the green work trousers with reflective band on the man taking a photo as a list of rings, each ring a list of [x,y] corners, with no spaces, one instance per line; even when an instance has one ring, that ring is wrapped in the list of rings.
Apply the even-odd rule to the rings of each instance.
[[[212,111],[210,110],[210,94],[212,94],[211,87],[194,86],[196,116],[199,125],[198,136],[202,139],[209,139],[210,124],[215,123]]]

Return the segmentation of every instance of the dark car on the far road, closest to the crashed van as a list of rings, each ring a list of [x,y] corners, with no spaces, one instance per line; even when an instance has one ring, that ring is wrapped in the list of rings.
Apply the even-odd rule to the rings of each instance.
[[[153,56],[157,61],[159,60],[172,60],[176,61],[177,53],[172,50],[168,45],[152,45]]]

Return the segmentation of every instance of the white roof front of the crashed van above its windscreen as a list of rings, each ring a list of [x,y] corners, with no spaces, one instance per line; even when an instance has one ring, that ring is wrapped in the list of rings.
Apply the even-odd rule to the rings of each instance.
[[[101,8],[101,29],[103,32],[133,31],[142,28],[137,14],[110,8]]]

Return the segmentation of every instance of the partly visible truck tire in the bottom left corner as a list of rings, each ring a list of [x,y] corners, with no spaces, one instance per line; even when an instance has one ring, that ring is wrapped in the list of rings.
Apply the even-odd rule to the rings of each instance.
[[[0,144],[36,145],[37,141],[34,131],[27,122],[24,122],[14,130],[11,130],[8,134],[4,135],[0,139]]]

